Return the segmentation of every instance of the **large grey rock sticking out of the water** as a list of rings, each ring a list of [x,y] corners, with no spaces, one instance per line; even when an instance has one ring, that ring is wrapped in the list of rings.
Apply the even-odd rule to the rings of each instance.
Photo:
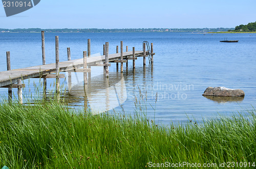
[[[207,87],[203,95],[241,97],[244,96],[245,93],[241,89],[229,89],[226,87]]]

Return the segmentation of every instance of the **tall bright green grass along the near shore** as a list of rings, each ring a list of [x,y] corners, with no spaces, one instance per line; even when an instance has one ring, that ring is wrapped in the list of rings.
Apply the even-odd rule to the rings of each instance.
[[[54,101],[2,103],[0,168],[145,168],[151,162],[248,167],[256,159],[255,115],[164,127],[145,115],[91,115]]]

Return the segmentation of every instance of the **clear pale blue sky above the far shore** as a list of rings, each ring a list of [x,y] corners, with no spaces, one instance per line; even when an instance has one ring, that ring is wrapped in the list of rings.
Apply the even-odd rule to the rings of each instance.
[[[256,21],[255,0],[41,0],[0,28],[234,28]]]

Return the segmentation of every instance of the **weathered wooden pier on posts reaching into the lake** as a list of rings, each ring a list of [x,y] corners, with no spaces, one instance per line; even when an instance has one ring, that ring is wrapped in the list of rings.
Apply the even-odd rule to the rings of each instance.
[[[128,46],[126,46],[126,52],[123,52],[123,41],[120,42],[120,53],[118,51],[116,54],[109,54],[109,42],[103,45],[103,55],[91,57],[91,39],[88,39],[88,52],[83,52],[83,58],[71,60],[70,48],[67,48],[68,59],[65,62],[59,62],[59,47],[58,47],[58,36],[55,37],[55,57],[56,63],[46,64],[45,57],[45,32],[41,32],[42,37],[42,65],[31,66],[26,68],[11,69],[10,57],[11,53],[7,52],[7,71],[0,72],[0,87],[8,88],[8,98],[11,102],[12,99],[12,88],[18,88],[18,99],[19,103],[23,104],[22,99],[22,88],[25,84],[22,84],[23,80],[31,78],[43,78],[44,79],[44,93],[46,95],[46,79],[54,78],[56,79],[56,93],[59,92],[59,78],[65,78],[65,75],[59,74],[60,72],[82,72],[84,73],[84,84],[87,84],[87,73],[91,72],[91,66],[103,66],[103,72],[106,78],[109,77],[109,66],[111,62],[116,63],[117,71],[118,64],[121,64],[120,72],[123,72],[123,63],[128,65],[129,60],[133,60],[133,68],[135,68],[135,60],[137,57],[143,57],[143,65],[145,65],[145,60],[147,56],[151,57],[153,64],[153,43],[151,43],[151,50],[146,50],[146,45],[143,43],[143,51],[135,51],[133,47],[132,52],[128,52]],[[88,56],[87,56],[88,54]],[[82,68],[81,68],[82,67]],[[70,74],[69,77],[70,78]]]

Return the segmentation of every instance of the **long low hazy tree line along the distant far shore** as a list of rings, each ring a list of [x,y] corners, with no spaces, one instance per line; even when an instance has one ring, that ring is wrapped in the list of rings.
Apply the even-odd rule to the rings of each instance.
[[[233,30],[233,28],[188,28],[188,29],[168,29],[168,28],[148,28],[148,29],[1,29],[0,33],[33,33],[33,32],[66,32],[66,33],[111,33],[111,32],[223,32]]]

